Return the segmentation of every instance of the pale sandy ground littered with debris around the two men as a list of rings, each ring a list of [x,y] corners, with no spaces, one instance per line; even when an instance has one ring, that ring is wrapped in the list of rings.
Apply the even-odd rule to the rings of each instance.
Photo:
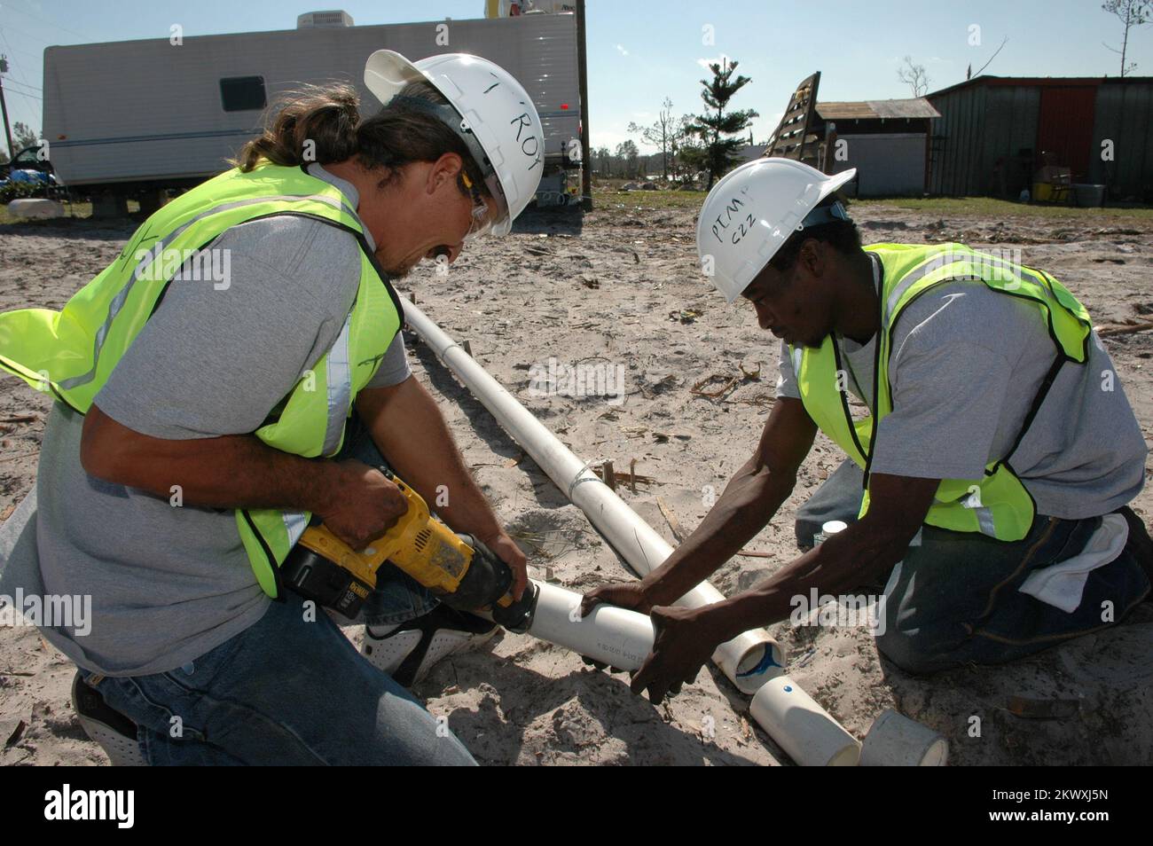
[[[620,496],[670,542],[656,498],[685,530],[744,462],[773,405],[776,342],[751,308],[726,308],[699,275],[694,209],[624,209],[598,195],[583,217],[534,214],[518,233],[470,248],[446,275],[422,267],[400,289],[586,460],[612,460],[653,477]],[[642,201],[643,202],[643,201]],[[1022,260],[1065,282],[1098,323],[1153,312],[1153,224],[1128,218],[944,219],[895,206],[859,206],[866,241],[1019,247]],[[0,310],[65,300],[116,255],[130,225],[54,221],[0,227]],[[412,337],[409,337],[412,341]],[[1107,339],[1146,440],[1153,440],[1153,332]],[[623,367],[625,396],[535,395],[534,367]],[[536,577],[573,590],[632,577],[587,520],[525,456],[484,408],[412,343],[477,481],[529,553]],[[760,378],[743,375],[756,372]],[[716,377],[722,396],[691,393]],[[35,481],[47,402],[0,382],[0,518]],[[823,438],[793,501],[713,583],[732,595],[796,554],[797,501],[839,463]],[[1147,464],[1146,474],[1153,464]],[[1133,504],[1150,522],[1153,488]],[[914,678],[880,658],[864,628],[771,628],[793,656],[791,675],[858,738],[886,708],[943,733],[952,764],[1148,764],[1153,762],[1153,605],[1113,630],[1004,667]],[[356,640],[359,632],[349,628]],[[0,762],[106,763],[68,703],[71,665],[31,628],[0,630]],[[627,677],[525,635],[443,662],[416,687],[436,715],[488,764],[774,764],[789,758],[747,717],[748,698],[715,667],[671,703],[634,697]],[[1071,702],[1058,718],[1025,719],[1010,698]],[[21,726],[21,723],[23,724]]]

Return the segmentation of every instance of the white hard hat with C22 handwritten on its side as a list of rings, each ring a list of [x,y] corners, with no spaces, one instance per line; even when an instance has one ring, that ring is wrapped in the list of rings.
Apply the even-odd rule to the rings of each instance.
[[[713,186],[696,220],[696,254],[733,302],[822,199],[857,175],[829,176],[792,159],[756,159]],[[807,225],[828,222],[809,220]]]

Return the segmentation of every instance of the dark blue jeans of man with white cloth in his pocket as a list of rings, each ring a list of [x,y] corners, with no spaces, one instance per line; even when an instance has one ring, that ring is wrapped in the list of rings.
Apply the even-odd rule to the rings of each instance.
[[[817,490],[815,513],[806,512],[808,503],[798,509],[798,536],[802,521],[856,520],[861,473],[856,464],[852,469],[838,470]],[[877,649],[903,670],[930,673],[969,663],[1003,664],[1116,625],[1150,592],[1148,562],[1143,567],[1139,560],[1145,553],[1136,531],[1118,558],[1090,573],[1072,613],[1017,590],[1033,571],[1079,553],[1100,524],[1099,516],[1039,515],[1028,535],[1015,542],[921,527],[920,544],[909,547],[886,586]]]

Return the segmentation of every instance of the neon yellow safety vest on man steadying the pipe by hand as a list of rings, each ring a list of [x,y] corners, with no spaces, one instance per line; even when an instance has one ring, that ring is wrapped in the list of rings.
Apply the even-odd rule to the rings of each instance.
[[[1034,398],[1020,433],[1008,453],[989,462],[979,479],[943,479],[925,522],[955,531],[980,531],[1001,541],[1018,541],[1028,532],[1035,506],[1013,473],[1010,460],[1057,371],[1067,361],[1083,363],[1088,355],[1092,324],[1085,308],[1057,280],[963,244],[921,247],[873,244],[865,250],[881,262],[882,284],[869,416],[850,414],[839,350],[831,337],[820,348],[790,348],[801,401],[820,429],[865,470],[861,515],[868,511],[873,421],[892,410],[889,357],[891,333],[904,309],[920,294],[947,281],[980,281],[992,290],[1033,303],[1045,317],[1056,357]]]

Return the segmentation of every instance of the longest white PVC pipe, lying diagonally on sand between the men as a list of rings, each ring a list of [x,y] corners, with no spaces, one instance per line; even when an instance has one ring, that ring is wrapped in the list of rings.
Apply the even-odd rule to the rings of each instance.
[[[405,320],[436,353],[457,378],[497,418],[556,485],[588,516],[628,565],[642,576],[672,554],[651,526],[645,522],[588,466],[562,444],[536,417],[508,393],[424,312],[402,301]],[[696,609],[721,602],[724,596],[701,582],[677,600]],[[784,672],[785,651],[768,632],[758,628],[722,643],[713,660],[743,693],[753,694],[767,679]]]

